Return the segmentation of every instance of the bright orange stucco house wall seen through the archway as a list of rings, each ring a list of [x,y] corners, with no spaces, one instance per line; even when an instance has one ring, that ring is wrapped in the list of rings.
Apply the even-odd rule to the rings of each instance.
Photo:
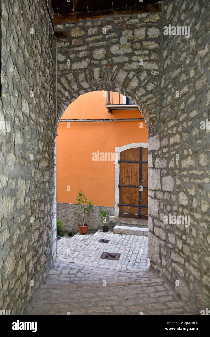
[[[86,93],[72,102],[61,119],[142,118],[139,110],[121,110],[109,114],[103,91]],[[148,132],[140,121],[66,122],[58,125],[57,202],[75,204],[82,189],[94,205],[114,207],[115,164],[93,161],[92,153],[115,152],[115,147],[130,143],[147,143]],[[67,191],[67,185],[70,191]]]

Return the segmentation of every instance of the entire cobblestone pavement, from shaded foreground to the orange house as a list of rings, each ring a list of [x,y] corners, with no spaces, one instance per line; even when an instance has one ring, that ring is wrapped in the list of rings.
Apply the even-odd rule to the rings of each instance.
[[[98,243],[100,238],[109,244]],[[148,270],[147,237],[98,231],[63,237],[57,249],[46,284],[34,292],[24,315],[193,314],[170,284]],[[103,251],[121,253],[119,261],[100,261]]]

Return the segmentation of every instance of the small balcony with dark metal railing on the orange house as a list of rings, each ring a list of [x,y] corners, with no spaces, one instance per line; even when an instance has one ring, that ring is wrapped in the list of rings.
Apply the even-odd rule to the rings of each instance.
[[[138,106],[128,97],[120,94],[119,92],[106,92],[106,108],[109,113],[113,110],[137,110]]]

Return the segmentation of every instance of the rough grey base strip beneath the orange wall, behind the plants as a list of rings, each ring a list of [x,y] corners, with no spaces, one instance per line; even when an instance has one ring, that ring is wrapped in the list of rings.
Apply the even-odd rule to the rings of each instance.
[[[107,224],[110,229],[114,227],[113,223],[109,222],[109,216],[114,216],[114,207],[94,206],[94,212],[89,221],[88,231],[97,231],[102,229],[102,223],[100,222],[100,210],[107,212]],[[76,204],[57,203],[57,218],[63,222],[62,230],[59,233],[78,233],[79,224],[77,217],[72,211],[77,211]]]

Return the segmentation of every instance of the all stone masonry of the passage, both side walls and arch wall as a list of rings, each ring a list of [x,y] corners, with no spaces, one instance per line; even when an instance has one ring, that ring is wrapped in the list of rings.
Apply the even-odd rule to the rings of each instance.
[[[11,131],[0,130],[0,308],[12,314],[23,313],[56,254],[50,15],[41,0],[2,1],[0,119]],[[210,303],[209,131],[200,128],[209,118],[209,17],[209,2],[169,0],[162,13],[54,25],[59,118],[88,91],[119,91],[138,104],[150,135],[151,264],[199,309]],[[189,38],[163,36],[170,24],[189,26]],[[169,214],[190,215],[189,227],[164,224]]]

